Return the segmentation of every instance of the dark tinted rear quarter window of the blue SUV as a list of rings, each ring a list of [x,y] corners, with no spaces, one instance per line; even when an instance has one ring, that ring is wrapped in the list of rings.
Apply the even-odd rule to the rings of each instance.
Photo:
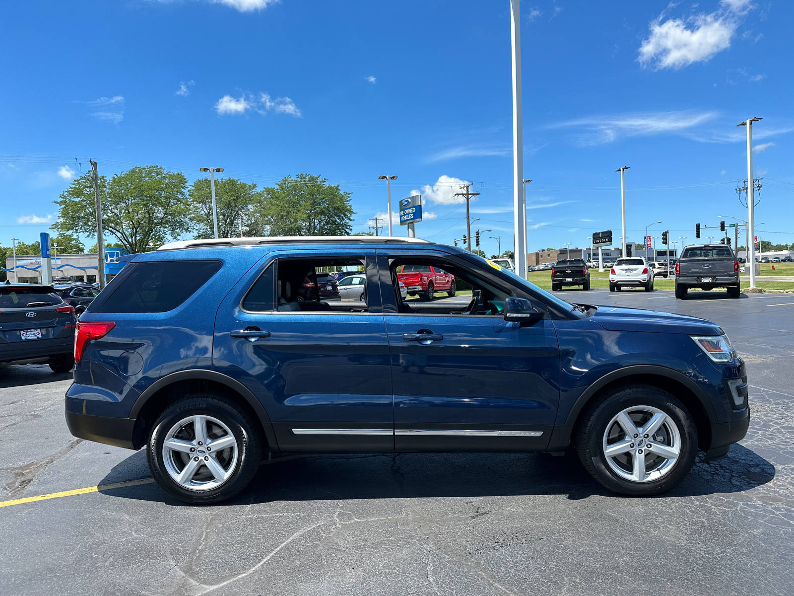
[[[168,312],[193,296],[221,261],[148,261],[136,268],[98,312]]]

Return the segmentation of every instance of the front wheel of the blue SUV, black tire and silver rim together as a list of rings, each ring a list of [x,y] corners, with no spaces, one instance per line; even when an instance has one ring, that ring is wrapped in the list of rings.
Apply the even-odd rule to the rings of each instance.
[[[593,478],[615,493],[664,493],[692,469],[697,430],[670,393],[629,385],[613,389],[585,412],[576,451]]]

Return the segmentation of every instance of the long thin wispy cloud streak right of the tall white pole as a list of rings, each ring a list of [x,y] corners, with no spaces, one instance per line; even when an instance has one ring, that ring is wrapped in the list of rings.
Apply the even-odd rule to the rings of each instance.
[[[716,117],[715,112],[657,112],[607,116],[588,116],[559,122],[549,128],[583,128],[580,134],[582,145],[610,143],[619,137],[637,137],[649,134],[685,134],[693,126],[703,124]]]

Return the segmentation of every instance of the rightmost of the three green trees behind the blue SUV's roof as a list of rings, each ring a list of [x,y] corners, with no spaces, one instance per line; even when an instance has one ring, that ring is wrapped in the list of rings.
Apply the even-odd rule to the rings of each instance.
[[[350,193],[327,184],[326,178],[287,176],[262,190],[256,224],[264,236],[347,236],[352,230]]]

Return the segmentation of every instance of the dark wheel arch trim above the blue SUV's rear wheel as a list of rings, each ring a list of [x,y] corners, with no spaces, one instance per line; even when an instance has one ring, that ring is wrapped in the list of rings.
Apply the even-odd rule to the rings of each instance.
[[[268,412],[265,412],[264,407],[252,391],[232,377],[205,369],[180,370],[177,373],[168,374],[149,385],[141,393],[129,412],[129,418],[135,419],[133,448],[140,449],[145,445],[152,424],[169,404],[185,393],[198,391],[216,391],[237,401],[249,410],[256,420],[259,420],[268,447],[274,452],[279,451],[276,433],[273,432]]]

